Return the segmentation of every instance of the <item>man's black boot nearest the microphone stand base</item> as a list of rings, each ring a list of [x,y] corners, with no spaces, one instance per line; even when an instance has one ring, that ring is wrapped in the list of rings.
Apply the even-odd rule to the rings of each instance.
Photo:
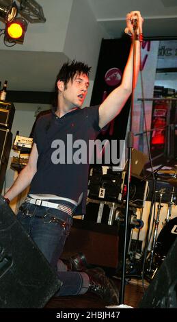
[[[94,273],[92,270],[87,270],[86,273],[90,279],[90,288],[88,291],[98,295],[107,304],[118,305],[119,292],[115,284],[100,271]]]

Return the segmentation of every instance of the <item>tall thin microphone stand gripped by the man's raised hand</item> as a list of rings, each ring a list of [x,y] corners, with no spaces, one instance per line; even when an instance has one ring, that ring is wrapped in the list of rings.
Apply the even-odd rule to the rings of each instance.
[[[127,136],[127,148],[128,148],[128,178],[127,178],[127,193],[126,193],[126,216],[124,221],[124,247],[123,247],[123,259],[122,259],[122,277],[120,284],[120,304],[124,304],[124,293],[125,293],[125,273],[126,273],[126,242],[127,242],[127,230],[128,230],[128,206],[129,206],[129,192],[131,182],[131,159],[133,149],[133,132],[132,130],[132,119],[133,119],[133,108],[134,108],[134,97],[135,97],[135,68],[136,68],[136,44],[135,36],[137,34],[137,21],[133,26],[133,79],[132,79],[132,95],[131,95],[131,116],[130,116],[130,131]],[[140,49],[141,50],[141,49]]]

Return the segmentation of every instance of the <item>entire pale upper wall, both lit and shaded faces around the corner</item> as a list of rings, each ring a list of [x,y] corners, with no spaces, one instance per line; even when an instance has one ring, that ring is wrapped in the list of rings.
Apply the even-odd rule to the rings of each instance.
[[[96,22],[87,0],[42,0],[40,5],[46,22],[29,23],[23,45],[5,47],[1,36],[0,50],[64,53],[71,60],[87,62],[93,74],[101,39],[109,35]],[[0,22],[0,28],[5,24]]]

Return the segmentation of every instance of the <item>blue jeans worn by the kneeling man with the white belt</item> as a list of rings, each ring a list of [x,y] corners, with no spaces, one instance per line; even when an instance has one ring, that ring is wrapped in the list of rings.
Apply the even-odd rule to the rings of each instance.
[[[56,201],[51,200],[51,202]],[[59,201],[59,203],[70,206],[70,208],[73,207],[73,209],[75,207],[67,201]],[[62,227],[62,222],[60,224],[60,221],[53,221],[53,217],[66,222],[66,227]],[[70,233],[72,216],[61,210],[24,202],[19,208],[17,219],[21,222],[27,234],[33,239],[40,251],[42,251],[51,267],[57,271],[57,261],[62,255],[66,238]],[[56,296],[79,294],[83,285],[83,278],[80,273],[57,271],[57,274],[63,284]]]

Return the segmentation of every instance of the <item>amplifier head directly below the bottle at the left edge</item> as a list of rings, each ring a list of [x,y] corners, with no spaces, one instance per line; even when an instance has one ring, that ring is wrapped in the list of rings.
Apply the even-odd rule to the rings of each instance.
[[[0,127],[11,129],[14,113],[15,107],[13,103],[0,101]]]

